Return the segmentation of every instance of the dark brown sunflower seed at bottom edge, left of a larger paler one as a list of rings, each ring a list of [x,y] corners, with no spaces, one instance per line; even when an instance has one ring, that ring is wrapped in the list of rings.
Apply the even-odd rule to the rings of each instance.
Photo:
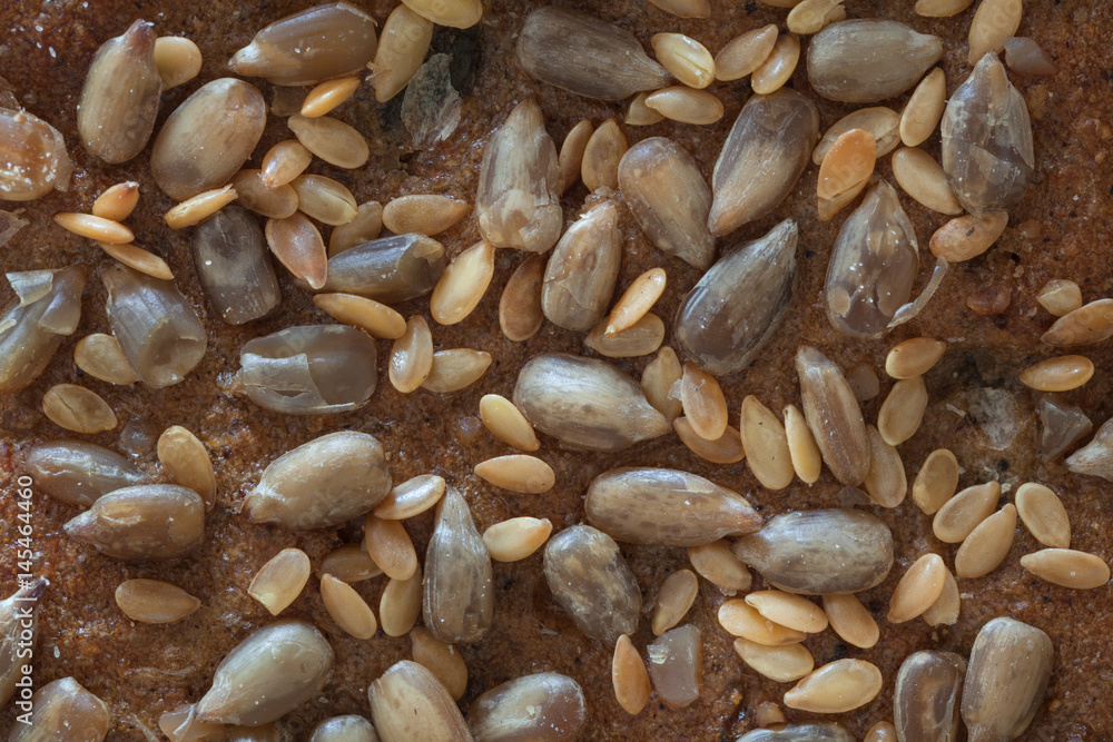
[[[895,738],[957,740],[966,660],[954,652],[916,652],[900,664],[893,698]]]

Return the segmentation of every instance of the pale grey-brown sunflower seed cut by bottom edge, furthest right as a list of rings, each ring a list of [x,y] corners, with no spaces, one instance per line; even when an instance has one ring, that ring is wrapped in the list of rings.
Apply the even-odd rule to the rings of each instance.
[[[1051,680],[1054,646],[1035,626],[994,619],[971,649],[963,721],[972,740],[1015,740],[1036,715]]]

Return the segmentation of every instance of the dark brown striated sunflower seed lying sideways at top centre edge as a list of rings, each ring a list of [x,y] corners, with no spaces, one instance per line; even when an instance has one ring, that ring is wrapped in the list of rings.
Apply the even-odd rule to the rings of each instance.
[[[669,72],[646,56],[632,33],[555,6],[525,18],[518,34],[518,61],[542,82],[602,100],[622,100],[669,82]]]

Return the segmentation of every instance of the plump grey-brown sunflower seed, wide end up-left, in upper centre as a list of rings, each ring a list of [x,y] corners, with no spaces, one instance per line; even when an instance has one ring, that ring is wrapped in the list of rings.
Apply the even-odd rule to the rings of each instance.
[[[683,148],[664,137],[638,142],[622,156],[618,182],[653,245],[697,268],[711,265],[715,237],[707,228],[711,189]]]

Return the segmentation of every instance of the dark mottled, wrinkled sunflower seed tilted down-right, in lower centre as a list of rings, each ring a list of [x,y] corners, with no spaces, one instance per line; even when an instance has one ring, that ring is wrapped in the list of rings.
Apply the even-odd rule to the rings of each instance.
[[[564,528],[543,563],[553,597],[581,632],[608,645],[633,633],[641,591],[613,538],[587,525]]]

